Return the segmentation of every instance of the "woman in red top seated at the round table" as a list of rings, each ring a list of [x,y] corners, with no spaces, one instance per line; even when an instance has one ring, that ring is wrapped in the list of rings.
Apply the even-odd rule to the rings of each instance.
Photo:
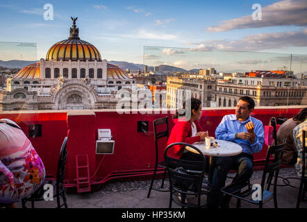
[[[201,101],[199,99],[190,99],[190,105],[183,103],[183,109],[185,112],[179,117],[179,113],[176,112],[174,117],[174,127],[167,140],[167,146],[175,142],[185,142],[187,144],[193,144],[194,142],[200,142],[201,139],[208,137],[208,131],[199,126],[197,122],[201,118]],[[185,107],[187,106],[187,107]],[[190,106],[190,109],[189,109]],[[190,119],[182,117],[188,114],[186,111],[190,110]],[[173,146],[167,153],[169,157],[181,160],[201,160],[199,154],[192,153],[186,150],[183,146]]]

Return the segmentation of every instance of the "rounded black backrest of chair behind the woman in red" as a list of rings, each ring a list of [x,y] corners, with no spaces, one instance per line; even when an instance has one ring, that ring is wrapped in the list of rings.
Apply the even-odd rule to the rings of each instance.
[[[167,156],[167,151],[173,146],[189,146],[197,151],[201,157],[200,161],[178,160]],[[206,158],[199,151],[198,148],[183,142],[173,143],[167,146],[164,153],[167,171],[169,173],[169,185],[171,189],[176,185],[176,188],[193,191],[195,193],[201,192],[201,183],[206,171]]]

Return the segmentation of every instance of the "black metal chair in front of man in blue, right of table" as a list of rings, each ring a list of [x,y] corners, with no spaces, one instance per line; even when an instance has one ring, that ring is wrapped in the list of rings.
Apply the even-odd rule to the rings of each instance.
[[[277,178],[279,176],[279,167],[281,164],[281,157],[283,155],[283,147],[285,146],[285,142],[281,145],[273,145],[267,148],[267,157],[265,160],[265,169],[263,170],[263,177],[261,180],[260,185],[260,198],[254,197],[254,190],[249,182],[244,184],[238,183],[231,183],[226,187],[222,188],[222,192],[224,194],[233,196],[238,198],[238,200],[245,200],[249,203],[253,203],[259,205],[260,208],[263,207],[264,203],[274,198],[274,207],[277,208],[277,196],[276,196],[276,185],[277,185]],[[272,160],[270,157],[274,155],[274,159]],[[274,175],[274,187],[273,193],[269,191],[271,182],[267,182],[265,187],[266,180],[272,180],[273,177],[267,176]],[[237,204],[238,207],[238,204]]]

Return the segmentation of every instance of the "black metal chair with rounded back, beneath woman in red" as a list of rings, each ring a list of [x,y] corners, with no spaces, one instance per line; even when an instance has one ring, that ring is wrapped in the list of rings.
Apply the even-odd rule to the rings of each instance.
[[[167,151],[173,146],[189,146],[197,151],[201,156],[201,161],[177,160],[167,156]],[[165,162],[169,174],[169,208],[172,201],[181,207],[205,207],[201,205],[201,195],[208,194],[210,183],[204,177],[206,171],[206,158],[198,148],[186,143],[174,143],[167,146],[165,150]],[[181,201],[173,198],[173,194],[180,194]],[[197,204],[185,203],[187,196],[196,196]]]

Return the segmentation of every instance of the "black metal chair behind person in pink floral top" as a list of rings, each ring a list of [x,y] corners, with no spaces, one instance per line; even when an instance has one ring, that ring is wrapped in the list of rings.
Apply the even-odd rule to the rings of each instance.
[[[56,198],[57,207],[67,208],[67,198],[65,194],[64,187],[64,175],[65,175],[65,164],[67,162],[67,137],[65,137],[62,147],[60,149],[60,155],[58,157],[58,169],[56,173],[56,178],[46,176],[43,185],[31,194],[30,197],[26,197],[22,199],[22,208],[26,208],[26,202],[31,201],[31,207],[34,208],[35,201],[43,201],[44,200],[44,185],[50,184],[53,187],[53,198]],[[63,204],[60,204],[60,196],[63,198]]]

